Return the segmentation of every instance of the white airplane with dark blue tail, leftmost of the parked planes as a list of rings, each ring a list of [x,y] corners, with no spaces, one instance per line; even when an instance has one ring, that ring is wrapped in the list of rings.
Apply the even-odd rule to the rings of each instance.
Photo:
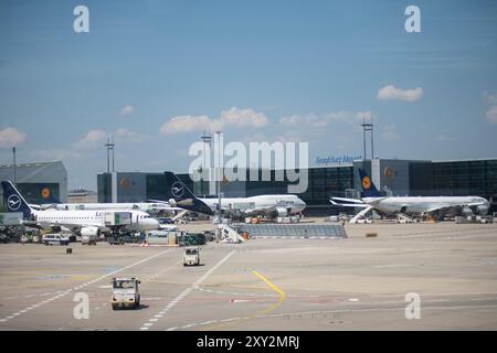
[[[110,229],[105,226],[105,211],[39,211],[31,207],[11,181],[2,181],[3,199],[9,212],[22,212],[21,224],[43,229],[61,231],[70,228],[81,235],[99,235]],[[125,231],[146,232],[159,228],[159,222],[141,211],[129,211],[131,224],[123,226]]]

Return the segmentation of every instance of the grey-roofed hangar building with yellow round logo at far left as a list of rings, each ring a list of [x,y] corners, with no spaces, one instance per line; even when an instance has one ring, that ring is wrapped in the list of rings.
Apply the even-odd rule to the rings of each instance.
[[[0,165],[0,180],[14,181],[13,164]],[[67,202],[67,171],[61,161],[15,164],[15,184],[29,203]]]

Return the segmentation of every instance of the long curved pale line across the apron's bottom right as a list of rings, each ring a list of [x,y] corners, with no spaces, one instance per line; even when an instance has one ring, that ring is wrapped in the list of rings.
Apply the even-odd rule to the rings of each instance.
[[[496,306],[458,306],[458,307],[423,307],[423,310],[461,310],[461,309],[491,309],[497,308]],[[334,313],[347,313],[347,312],[369,312],[369,311],[400,311],[403,312],[405,310],[405,307],[400,308],[366,308],[366,309],[338,309],[338,310],[324,310],[324,311],[303,311],[303,312],[284,312],[284,313],[276,313],[276,314],[262,314],[256,315],[254,318],[256,319],[267,319],[267,318],[282,318],[282,317],[302,317],[302,315],[322,315],[322,314],[334,314]],[[178,329],[190,329],[193,327],[200,327],[212,322],[231,322],[231,321],[239,321],[239,320],[247,320],[247,318],[230,318],[230,319],[221,319],[221,320],[210,320],[205,322],[195,322],[195,323],[189,323],[182,327],[173,327],[169,328],[166,331],[176,331]],[[219,327],[223,327],[223,324],[220,324]]]

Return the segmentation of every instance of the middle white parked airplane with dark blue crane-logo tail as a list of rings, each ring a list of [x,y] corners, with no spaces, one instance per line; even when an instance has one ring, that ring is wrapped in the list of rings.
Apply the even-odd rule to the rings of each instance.
[[[170,205],[184,207],[184,195],[187,200],[197,202],[197,206],[191,206],[190,211],[214,214],[219,210],[218,199],[197,197],[172,172],[165,172],[167,183],[171,185],[169,200]],[[178,196],[183,197],[179,200]],[[296,195],[257,195],[250,197],[222,197],[221,208],[236,216],[267,215],[272,217],[286,217],[304,211],[306,203]],[[201,210],[199,210],[201,208]]]

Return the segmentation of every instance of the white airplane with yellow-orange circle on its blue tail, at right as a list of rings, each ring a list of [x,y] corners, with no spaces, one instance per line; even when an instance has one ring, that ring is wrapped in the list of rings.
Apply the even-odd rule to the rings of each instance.
[[[467,215],[486,215],[489,202],[480,196],[383,196],[364,170],[359,169],[363,196],[358,199],[331,197],[337,206],[371,207],[388,214],[437,214],[458,213]]]

